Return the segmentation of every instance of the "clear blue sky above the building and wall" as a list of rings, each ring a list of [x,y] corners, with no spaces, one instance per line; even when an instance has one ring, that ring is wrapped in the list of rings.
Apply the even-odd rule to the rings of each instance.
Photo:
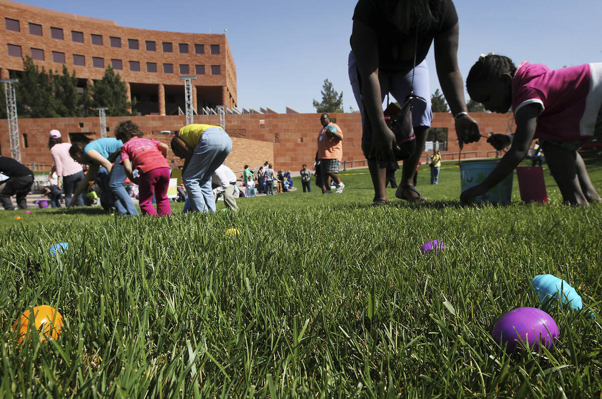
[[[315,112],[324,79],[357,108],[347,77],[355,0],[23,0],[25,4],[110,19],[123,27],[223,33],[237,65],[238,107]],[[601,0],[456,0],[459,66],[466,78],[479,54],[550,68],[602,61]],[[432,48],[430,88],[439,82]]]

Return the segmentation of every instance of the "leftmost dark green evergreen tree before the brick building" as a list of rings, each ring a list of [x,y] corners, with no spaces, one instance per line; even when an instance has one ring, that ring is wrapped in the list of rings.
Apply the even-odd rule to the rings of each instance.
[[[56,102],[52,96],[52,72],[40,71],[31,57],[23,58],[23,73],[14,86],[17,115],[20,118],[57,118]]]

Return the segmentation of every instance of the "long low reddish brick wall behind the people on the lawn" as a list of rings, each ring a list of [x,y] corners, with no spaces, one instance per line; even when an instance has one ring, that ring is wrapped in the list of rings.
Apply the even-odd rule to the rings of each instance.
[[[361,118],[358,113],[333,113],[331,119],[343,130],[343,160],[347,166],[365,166],[361,150]],[[507,133],[507,116],[489,113],[476,113],[473,117],[479,123],[480,131],[487,133]],[[108,136],[114,136],[116,125],[127,119],[138,124],[145,137],[169,144],[172,135],[161,134],[161,131],[176,131],[185,123],[184,116],[135,116],[108,117]],[[217,115],[194,116],[194,123],[219,125]],[[442,152],[442,159],[458,159],[458,143],[455,141],[454,121],[450,114],[435,113],[433,127],[448,128],[448,149]],[[52,165],[52,157],[48,149],[48,133],[58,129],[64,137],[69,133],[95,133],[100,137],[99,118],[50,118],[19,119],[21,139],[21,157],[23,163],[36,162]],[[237,171],[244,164],[255,168],[266,160],[272,162],[274,168],[291,171],[301,169],[303,163],[312,165],[317,149],[317,136],[321,129],[320,115],[311,114],[247,114],[226,115],[226,131],[232,137],[232,153],[226,165]],[[28,148],[25,148],[26,134]],[[68,140],[68,139],[65,139]],[[8,123],[0,120],[0,151],[3,156],[10,156],[8,139]],[[462,158],[482,158],[495,156],[494,149],[481,139],[480,142],[464,147]],[[176,165],[178,159],[170,156]],[[423,162],[426,161],[424,154]]]

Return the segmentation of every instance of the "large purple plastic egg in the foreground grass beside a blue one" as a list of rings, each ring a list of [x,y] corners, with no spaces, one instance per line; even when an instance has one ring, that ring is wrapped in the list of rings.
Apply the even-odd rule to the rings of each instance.
[[[527,342],[533,351],[543,344],[550,349],[558,339],[558,325],[548,313],[535,307],[519,307],[501,316],[493,327],[491,335],[507,351],[517,352]]]

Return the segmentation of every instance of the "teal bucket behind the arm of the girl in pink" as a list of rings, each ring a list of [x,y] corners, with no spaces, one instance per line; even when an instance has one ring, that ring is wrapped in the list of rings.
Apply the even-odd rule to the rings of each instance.
[[[460,164],[460,179],[462,191],[483,183],[498,161],[465,161]],[[512,199],[512,178],[514,171],[504,180],[483,195],[474,197],[476,203],[509,204]]]

